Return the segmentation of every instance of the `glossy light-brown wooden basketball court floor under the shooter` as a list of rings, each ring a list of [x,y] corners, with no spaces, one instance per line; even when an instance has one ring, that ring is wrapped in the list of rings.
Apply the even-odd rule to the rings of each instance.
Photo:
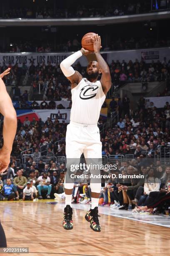
[[[86,211],[73,209],[74,228],[64,230],[64,204],[47,202],[0,202],[7,247],[29,247],[29,254],[13,255],[170,255],[169,228],[102,214],[97,233],[85,220]]]

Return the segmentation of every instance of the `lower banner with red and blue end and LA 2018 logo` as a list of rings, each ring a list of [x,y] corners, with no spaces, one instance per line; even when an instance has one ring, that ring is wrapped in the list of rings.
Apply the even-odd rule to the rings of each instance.
[[[16,110],[17,119],[23,123],[25,118],[28,117],[28,120],[32,121],[34,117],[35,120],[42,119],[43,122],[47,120],[47,117],[50,117],[52,121],[57,118],[60,123],[64,120],[65,123],[70,123],[70,109],[54,109],[54,110]]]

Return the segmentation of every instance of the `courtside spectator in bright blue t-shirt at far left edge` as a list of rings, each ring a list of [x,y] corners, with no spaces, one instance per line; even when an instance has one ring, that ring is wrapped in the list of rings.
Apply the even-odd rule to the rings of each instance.
[[[2,188],[2,194],[0,193],[0,200],[19,200],[19,194],[17,188],[12,184],[12,180],[9,178],[6,180],[6,184]]]

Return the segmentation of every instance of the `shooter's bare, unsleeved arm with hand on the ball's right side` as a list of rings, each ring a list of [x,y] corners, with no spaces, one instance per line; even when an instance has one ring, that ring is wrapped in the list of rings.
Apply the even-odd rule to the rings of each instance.
[[[101,49],[100,36],[98,36],[98,34],[96,34],[94,36],[94,38],[92,37],[92,41],[93,41],[95,56],[96,56],[97,62],[99,64],[100,71],[102,72],[102,77],[101,77],[100,82],[102,84],[103,92],[106,95],[112,85],[110,69],[109,69],[106,61],[103,59],[103,57],[100,54],[100,49]]]

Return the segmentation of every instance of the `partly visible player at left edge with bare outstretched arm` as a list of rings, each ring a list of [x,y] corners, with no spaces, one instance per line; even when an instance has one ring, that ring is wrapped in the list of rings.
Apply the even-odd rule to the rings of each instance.
[[[10,73],[10,68],[0,74],[0,113],[4,116],[3,147],[0,149],[0,172],[5,172],[10,163],[13,140],[17,131],[17,116],[2,78]],[[5,233],[0,223],[0,247],[7,247]]]

